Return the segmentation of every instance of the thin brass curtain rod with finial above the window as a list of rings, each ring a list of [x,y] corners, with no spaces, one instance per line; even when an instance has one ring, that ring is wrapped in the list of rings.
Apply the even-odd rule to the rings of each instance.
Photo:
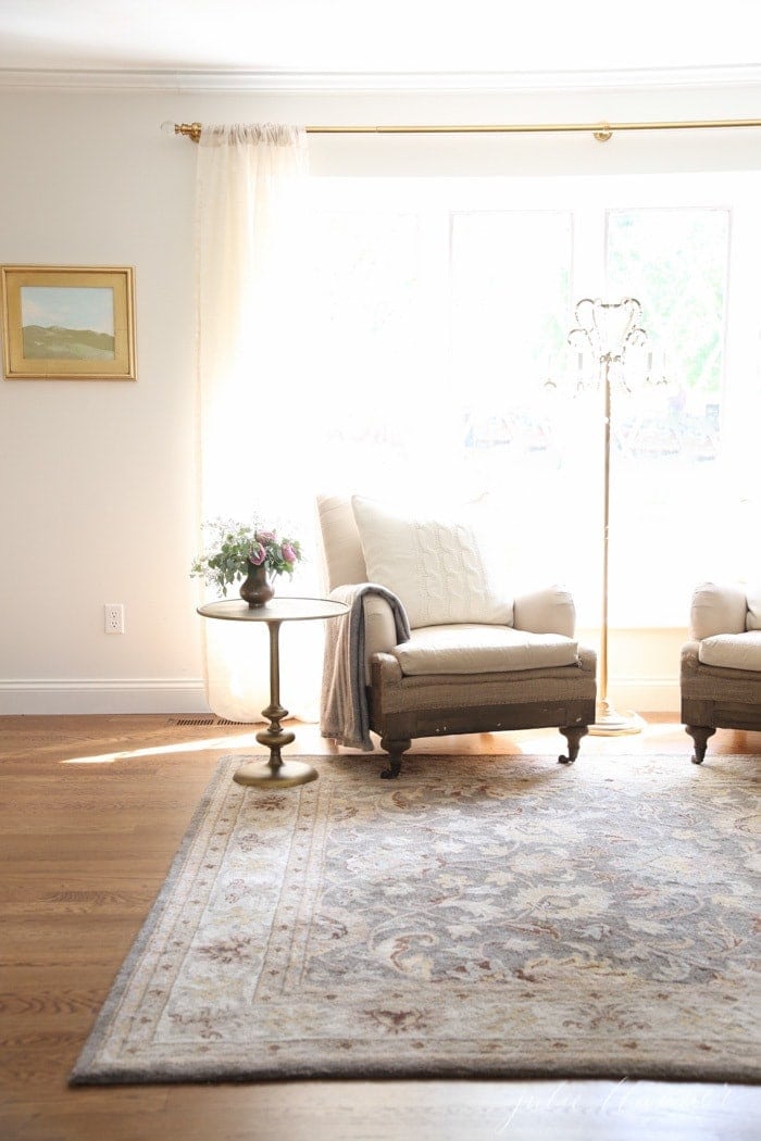
[[[614,131],[714,130],[726,127],[761,127],[761,119],[697,119],[688,122],[650,123],[461,123],[391,127],[306,127],[307,135],[533,135],[588,132],[598,143],[607,143]],[[194,143],[201,138],[201,123],[175,123],[175,133]]]

